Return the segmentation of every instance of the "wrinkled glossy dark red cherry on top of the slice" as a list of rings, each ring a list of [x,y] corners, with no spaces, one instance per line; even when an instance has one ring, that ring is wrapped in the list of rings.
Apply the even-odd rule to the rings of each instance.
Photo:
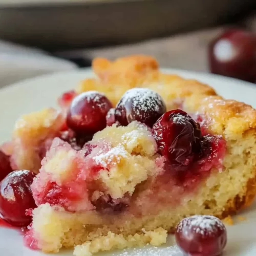
[[[182,110],[171,110],[154,124],[152,135],[158,152],[170,163],[188,166],[202,155],[200,125]]]

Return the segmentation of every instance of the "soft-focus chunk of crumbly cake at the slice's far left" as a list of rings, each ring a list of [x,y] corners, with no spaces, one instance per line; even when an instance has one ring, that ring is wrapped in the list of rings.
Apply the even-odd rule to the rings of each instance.
[[[52,108],[21,116],[15,123],[12,135],[13,169],[28,169],[38,173],[40,154],[44,147],[42,144],[50,146],[62,123],[60,112]]]

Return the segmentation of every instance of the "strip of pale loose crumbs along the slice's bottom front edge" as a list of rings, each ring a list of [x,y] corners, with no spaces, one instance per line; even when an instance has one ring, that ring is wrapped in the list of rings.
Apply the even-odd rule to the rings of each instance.
[[[106,236],[96,238],[93,241],[86,242],[82,245],[75,246],[75,256],[92,256],[99,251],[110,251],[114,249],[124,249],[134,246],[144,246],[147,244],[160,246],[166,243],[167,230],[157,228],[153,231],[142,230],[142,233],[136,233],[133,236],[123,236],[111,231]]]

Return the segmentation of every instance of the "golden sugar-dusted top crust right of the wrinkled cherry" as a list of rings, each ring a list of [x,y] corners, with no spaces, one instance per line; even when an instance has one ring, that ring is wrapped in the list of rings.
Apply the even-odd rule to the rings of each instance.
[[[220,96],[193,95],[185,99],[183,106],[185,111],[203,115],[208,129],[225,139],[239,138],[256,128],[256,110],[243,102]]]

